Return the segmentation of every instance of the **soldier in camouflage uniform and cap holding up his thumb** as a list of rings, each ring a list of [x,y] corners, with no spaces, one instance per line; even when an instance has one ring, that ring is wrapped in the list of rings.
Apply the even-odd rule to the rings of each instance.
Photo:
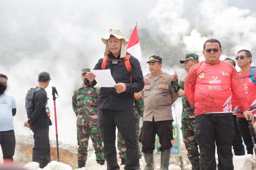
[[[180,60],[180,63],[184,63],[185,70],[188,72],[189,69],[198,63],[197,54],[187,54],[183,60]],[[187,96],[184,93],[184,84],[186,76],[180,79],[178,83],[178,75],[175,71],[175,74],[171,77],[174,82],[171,87],[177,93],[179,97],[182,97],[182,119],[181,119],[181,130],[183,136],[183,142],[185,143],[186,149],[188,151],[188,158],[192,165],[192,170],[200,170],[200,158],[198,152],[198,144],[194,137],[194,129],[196,125],[194,110],[195,108],[189,103]]]

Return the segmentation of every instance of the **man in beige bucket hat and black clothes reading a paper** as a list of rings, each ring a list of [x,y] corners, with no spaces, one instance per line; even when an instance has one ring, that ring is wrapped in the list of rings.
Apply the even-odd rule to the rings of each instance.
[[[139,152],[133,93],[140,92],[144,86],[141,66],[126,52],[125,45],[129,41],[120,28],[109,29],[107,37],[101,40],[106,44],[105,57],[99,59],[94,70],[110,69],[117,83],[114,87],[101,87],[98,100],[98,123],[107,169],[119,169],[115,147],[117,127],[127,148],[125,169],[135,170],[139,166]],[[97,83],[95,77],[88,72],[85,81],[93,87]]]

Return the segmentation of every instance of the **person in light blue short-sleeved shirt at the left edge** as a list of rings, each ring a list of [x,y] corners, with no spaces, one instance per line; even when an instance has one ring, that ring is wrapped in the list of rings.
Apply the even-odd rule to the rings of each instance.
[[[15,134],[13,117],[16,115],[16,103],[12,95],[5,92],[7,76],[0,74],[0,144],[4,164],[13,163]]]

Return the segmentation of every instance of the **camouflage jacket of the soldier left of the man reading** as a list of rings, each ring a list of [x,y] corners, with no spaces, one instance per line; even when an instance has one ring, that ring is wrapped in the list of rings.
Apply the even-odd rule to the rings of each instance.
[[[81,85],[72,97],[73,110],[77,116],[76,125],[86,126],[98,124],[98,95],[96,88]]]

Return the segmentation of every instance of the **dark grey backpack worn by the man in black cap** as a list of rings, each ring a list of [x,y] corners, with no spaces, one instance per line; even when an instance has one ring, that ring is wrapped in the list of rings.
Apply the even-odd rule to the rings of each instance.
[[[40,88],[30,88],[25,97],[25,108],[27,112],[28,119],[30,118],[31,114],[33,113],[33,98],[36,91],[42,90]]]

